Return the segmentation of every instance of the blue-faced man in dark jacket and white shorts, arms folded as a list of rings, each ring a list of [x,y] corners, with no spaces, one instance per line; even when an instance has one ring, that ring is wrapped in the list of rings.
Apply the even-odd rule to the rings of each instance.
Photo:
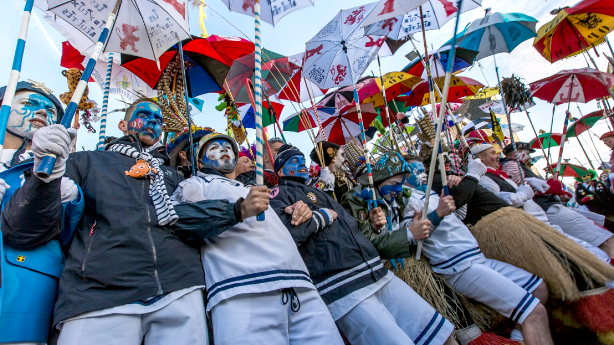
[[[300,150],[283,145],[274,168],[279,185],[271,193],[271,206],[286,224],[328,311],[351,344],[456,344],[453,325],[383,266],[354,217],[321,188],[306,185],[305,156]],[[298,201],[313,212],[303,223],[289,215]]]

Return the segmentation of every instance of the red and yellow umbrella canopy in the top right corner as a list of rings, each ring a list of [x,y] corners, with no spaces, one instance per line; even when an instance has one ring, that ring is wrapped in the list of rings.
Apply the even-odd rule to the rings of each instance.
[[[533,46],[554,63],[604,41],[614,29],[612,0],[584,0],[565,7],[537,30]]]

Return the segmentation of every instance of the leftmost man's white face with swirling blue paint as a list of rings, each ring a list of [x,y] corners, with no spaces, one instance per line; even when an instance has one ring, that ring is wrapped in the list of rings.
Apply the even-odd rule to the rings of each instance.
[[[53,125],[57,116],[58,109],[49,98],[34,91],[19,91],[11,104],[7,129],[32,139],[39,128]]]

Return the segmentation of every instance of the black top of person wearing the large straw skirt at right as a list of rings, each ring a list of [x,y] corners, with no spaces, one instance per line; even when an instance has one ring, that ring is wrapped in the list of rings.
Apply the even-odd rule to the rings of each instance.
[[[435,172],[432,190],[441,193],[443,189],[441,175]],[[502,198],[490,192],[478,184],[478,180],[471,176],[465,176],[458,185],[449,188],[450,195],[454,198],[457,209],[467,205],[467,215],[462,221],[465,224],[475,224],[482,217],[491,214],[498,209],[510,206]]]

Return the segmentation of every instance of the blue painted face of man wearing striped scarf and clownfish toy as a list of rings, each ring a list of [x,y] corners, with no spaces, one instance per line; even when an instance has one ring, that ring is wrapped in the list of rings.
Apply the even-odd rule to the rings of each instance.
[[[154,142],[160,140],[162,134],[162,110],[153,103],[141,102],[136,104],[136,108],[128,120],[128,133],[136,133],[141,141]]]

